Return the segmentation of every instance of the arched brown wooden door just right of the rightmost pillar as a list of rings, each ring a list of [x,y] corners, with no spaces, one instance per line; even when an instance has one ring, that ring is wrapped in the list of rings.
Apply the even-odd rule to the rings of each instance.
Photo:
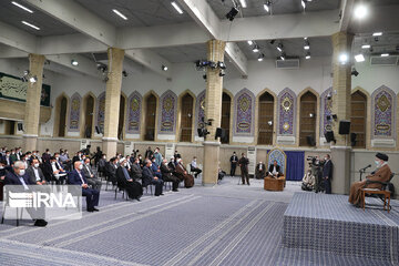
[[[366,147],[367,98],[357,91],[350,99],[350,133],[356,134],[354,147]]]

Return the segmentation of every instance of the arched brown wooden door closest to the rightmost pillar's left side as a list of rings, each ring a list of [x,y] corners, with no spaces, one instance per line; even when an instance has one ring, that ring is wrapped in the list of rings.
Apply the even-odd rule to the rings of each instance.
[[[315,94],[306,92],[300,98],[299,113],[299,145],[308,146],[307,136],[311,136],[316,142],[317,98]]]

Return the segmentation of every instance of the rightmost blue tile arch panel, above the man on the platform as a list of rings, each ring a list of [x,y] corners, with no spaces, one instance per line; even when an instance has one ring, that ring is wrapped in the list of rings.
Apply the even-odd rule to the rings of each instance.
[[[371,140],[396,140],[396,93],[381,85],[371,94]]]

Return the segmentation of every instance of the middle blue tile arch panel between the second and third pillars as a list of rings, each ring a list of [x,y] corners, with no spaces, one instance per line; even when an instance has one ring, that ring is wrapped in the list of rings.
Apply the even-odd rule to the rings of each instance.
[[[160,99],[158,134],[176,133],[177,95],[167,90]]]

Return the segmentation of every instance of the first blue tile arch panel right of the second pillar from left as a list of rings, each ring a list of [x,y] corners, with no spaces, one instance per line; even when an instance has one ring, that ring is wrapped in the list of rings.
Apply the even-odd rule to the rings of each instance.
[[[140,92],[134,91],[127,99],[126,133],[140,134],[140,119],[142,113],[143,98]]]

